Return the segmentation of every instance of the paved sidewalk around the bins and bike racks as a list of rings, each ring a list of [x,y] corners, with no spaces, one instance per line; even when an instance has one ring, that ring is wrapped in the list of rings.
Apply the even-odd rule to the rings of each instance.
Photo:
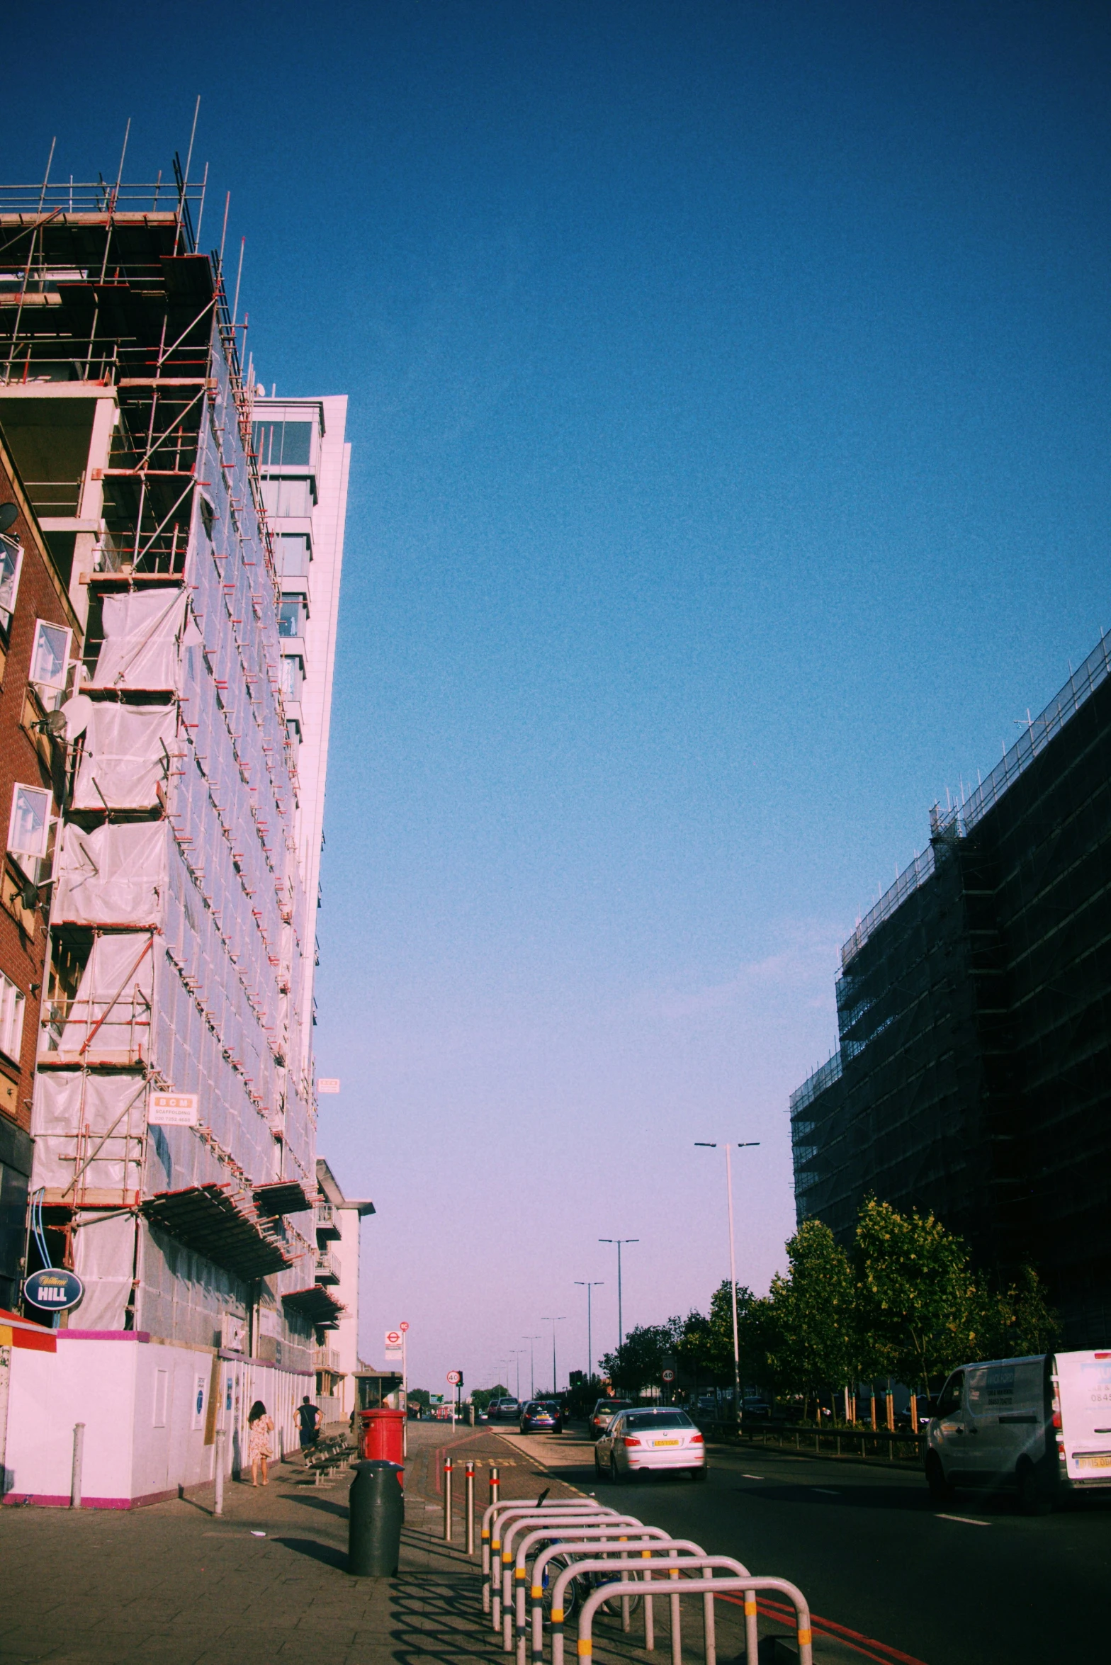
[[[306,1485],[300,1460],[272,1469],[268,1487],[228,1484],[225,1513],[212,1490],[133,1512],[8,1507],[0,1510],[0,1657],[5,1665],[450,1665],[505,1662],[478,1623],[478,1572],[463,1548],[461,1469],[456,1540],[443,1543],[440,1465],[473,1455],[476,1515],[491,1460],[503,1497],[575,1495],[523,1449],[481,1429],[410,1425],[406,1522],[398,1578],[346,1572],[346,1489]],[[718,1660],[743,1655],[740,1610],[718,1607]],[[666,1602],[658,1603],[656,1652],[640,1622],[621,1638],[616,1618],[596,1627],[595,1660],[670,1658]],[[701,1623],[683,1620],[686,1658],[701,1660]],[[761,1628],[766,1628],[761,1625]],[[773,1627],[785,1635],[785,1627]],[[571,1655],[573,1657],[573,1655]],[[785,1655],[786,1657],[786,1655]],[[820,1658],[831,1658],[825,1650]]]

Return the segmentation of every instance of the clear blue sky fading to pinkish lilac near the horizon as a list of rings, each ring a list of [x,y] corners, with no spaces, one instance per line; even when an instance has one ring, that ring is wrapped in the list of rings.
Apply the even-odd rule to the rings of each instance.
[[[483,1382],[566,1314],[585,1364],[600,1235],[626,1324],[705,1305],[730,1132],[766,1287],[838,944],[1111,623],[1108,8],[50,37],[7,176],[55,133],[112,175],[128,117],[168,170],[200,92],[260,375],[351,401],[316,1042],[366,1357],[405,1317],[416,1380]]]

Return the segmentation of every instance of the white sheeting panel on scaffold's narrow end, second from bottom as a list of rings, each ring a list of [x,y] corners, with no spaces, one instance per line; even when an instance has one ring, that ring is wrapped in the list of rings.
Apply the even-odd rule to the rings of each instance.
[[[147,1082],[142,1076],[40,1071],[32,1134],[35,1184],[135,1192],[142,1184]]]

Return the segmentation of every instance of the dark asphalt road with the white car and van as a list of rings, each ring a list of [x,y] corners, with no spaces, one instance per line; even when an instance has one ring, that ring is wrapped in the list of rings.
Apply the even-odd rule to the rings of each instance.
[[[710,1480],[598,1482],[585,1437],[521,1437],[560,1479],[641,1520],[791,1578],[816,1615],[876,1638],[861,1657],[911,1665],[1044,1665],[1106,1658],[1111,1500],[1048,1518],[1006,1495],[959,1492],[938,1512],[913,1472],[711,1449]]]

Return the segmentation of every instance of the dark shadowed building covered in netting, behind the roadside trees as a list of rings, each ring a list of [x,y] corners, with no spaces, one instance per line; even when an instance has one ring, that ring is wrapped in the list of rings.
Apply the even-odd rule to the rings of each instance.
[[[839,1049],[791,1096],[798,1217],[933,1209],[1111,1337],[1111,644],[841,949]]]

